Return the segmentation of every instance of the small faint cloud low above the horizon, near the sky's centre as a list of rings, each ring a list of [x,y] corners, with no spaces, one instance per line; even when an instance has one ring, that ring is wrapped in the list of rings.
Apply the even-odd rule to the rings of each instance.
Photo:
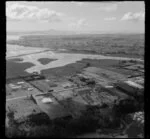
[[[69,27],[71,28],[74,28],[74,29],[80,29],[81,27],[84,27],[84,26],[87,26],[87,21],[86,19],[82,18],[82,19],[79,19],[75,22],[72,22],[69,24]]]

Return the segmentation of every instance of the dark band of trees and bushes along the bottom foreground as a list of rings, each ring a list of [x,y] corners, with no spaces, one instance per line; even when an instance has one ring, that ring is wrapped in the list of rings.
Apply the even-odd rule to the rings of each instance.
[[[95,132],[100,129],[103,134],[119,132],[126,129],[122,121],[127,121],[130,128],[126,130],[129,137],[135,137],[138,134],[143,136],[143,126],[129,120],[128,114],[142,111],[142,104],[138,100],[122,100],[116,102],[113,107],[108,105],[104,107],[88,106],[82,115],[72,118],[58,118],[50,120],[44,113],[32,113],[25,117],[23,122],[15,120],[15,111],[9,109],[7,116],[9,118],[9,127],[6,127],[7,137],[76,137],[86,133]],[[127,119],[128,118],[128,119]],[[124,124],[123,127],[121,125]],[[130,132],[132,130],[132,133]]]

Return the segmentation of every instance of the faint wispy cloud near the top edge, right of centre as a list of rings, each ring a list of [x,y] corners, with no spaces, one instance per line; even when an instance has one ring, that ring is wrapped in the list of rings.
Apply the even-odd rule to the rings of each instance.
[[[105,12],[112,12],[117,10],[118,5],[117,4],[103,4],[101,5],[98,10],[99,11],[105,11]]]

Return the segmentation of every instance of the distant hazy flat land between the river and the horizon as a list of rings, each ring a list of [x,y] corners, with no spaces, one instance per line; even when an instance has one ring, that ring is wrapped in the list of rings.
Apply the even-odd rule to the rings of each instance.
[[[105,35],[29,35],[7,43],[30,47],[66,49],[75,53],[108,54],[114,56],[143,57],[144,34]]]

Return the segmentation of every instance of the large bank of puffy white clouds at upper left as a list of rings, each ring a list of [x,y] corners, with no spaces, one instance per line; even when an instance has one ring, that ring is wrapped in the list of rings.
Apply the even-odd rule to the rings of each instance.
[[[19,3],[6,4],[6,16],[8,20],[28,20],[28,21],[61,21],[62,13],[49,10],[47,8],[40,9],[36,6],[23,5]]]

